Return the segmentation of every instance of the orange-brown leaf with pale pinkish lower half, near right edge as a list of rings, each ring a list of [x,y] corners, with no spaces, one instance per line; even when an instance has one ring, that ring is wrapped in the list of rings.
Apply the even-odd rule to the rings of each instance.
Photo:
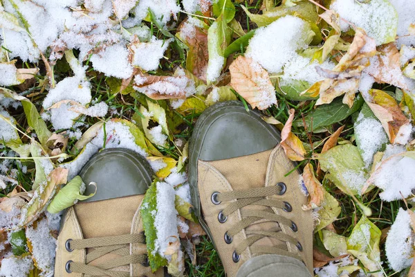
[[[400,143],[403,129],[407,128],[409,119],[403,114],[402,110],[392,96],[385,91],[371,89],[369,91],[371,100],[367,100],[367,105],[374,112],[375,116],[382,123],[383,129],[391,143]]]

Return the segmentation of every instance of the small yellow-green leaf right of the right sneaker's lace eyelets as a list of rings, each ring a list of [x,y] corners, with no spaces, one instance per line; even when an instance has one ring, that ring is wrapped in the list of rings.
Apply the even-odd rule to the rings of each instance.
[[[314,232],[320,231],[325,226],[331,224],[340,215],[342,208],[339,206],[339,202],[330,193],[324,190],[324,201],[318,213],[318,224],[315,226]]]

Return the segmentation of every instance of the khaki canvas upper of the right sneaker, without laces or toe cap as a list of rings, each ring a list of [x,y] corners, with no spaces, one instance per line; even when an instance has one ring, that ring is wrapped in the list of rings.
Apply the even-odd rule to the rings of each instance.
[[[297,247],[288,242],[282,242],[275,238],[262,238],[255,242],[254,245],[279,246],[285,247],[288,251],[299,253],[311,272],[313,270],[313,220],[310,211],[302,211],[301,206],[306,204],[307,197],[302,194],[298,181],[299,174],[294,171],[291,175],[284,175],[293,170],[293,163],[286,158],[281,146],[273,150],[252,154],[244,157],[225,159],[220,161],[200,161],[198,163],[198,188],[201,201],[201,208],[205,222],[212,233],[216,249],[219,251],[221,260],[228,276],[237,276],[239,267],[246,261],[250,260],[255,253],[252,253],[248,247],[241,254],[239,262],[233,262],[232,253],[236,246],[247,238],[246,231],[250,229],[262,229],[266,231],[282,231],[292,235],[303,246],[304,251],[299,252]],[[232,190],[246,190],[250,188],[259,188],[264,186],[275,186],[278,182],[284,182],[287,191],[284,195],[273,195],[270,199],[275,198],[286,201],[293,206],[291,213],[286,213],[278,208],[273,208],[271,212],[283,215],[289,220],[293,220],[298,226],[298,232],[293,232],[289,226],[279,226],[275,222],[257,222],[252,224],[246,230],[234,235],[231,244],[226,244],[224,234],[241,220],[241,211],[237,211],[228,216],[225,223],[218,221],[218,213],[225,208],[227,203],[215,205],[211,201],[212,193],[228,192]],[[229,202],[228,202],[229,203]],[[270,211],[271,208],[263,206],[246,206],[244,208],[255,211]]]

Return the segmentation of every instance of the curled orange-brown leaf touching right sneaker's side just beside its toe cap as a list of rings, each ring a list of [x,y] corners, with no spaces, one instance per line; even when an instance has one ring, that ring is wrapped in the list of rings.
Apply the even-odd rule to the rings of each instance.
[[[290,109],[288,113],[290,116],[288,117],[284,128],[282,128],[280,144],[288,159],[291,159],[291,161],[302,161],[304,160],[306,150],[304,149],[302,141],[300,141],[297,136],[291,132],[291,126],[293,125],[294,120],[294,109]]]

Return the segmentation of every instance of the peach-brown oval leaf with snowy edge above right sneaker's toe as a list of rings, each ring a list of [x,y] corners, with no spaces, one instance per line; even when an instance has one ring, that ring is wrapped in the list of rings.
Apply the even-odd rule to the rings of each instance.
[[[252,59],[239,56],[229,66],[230,85],[255,109],[277,105],[268,72]]]

